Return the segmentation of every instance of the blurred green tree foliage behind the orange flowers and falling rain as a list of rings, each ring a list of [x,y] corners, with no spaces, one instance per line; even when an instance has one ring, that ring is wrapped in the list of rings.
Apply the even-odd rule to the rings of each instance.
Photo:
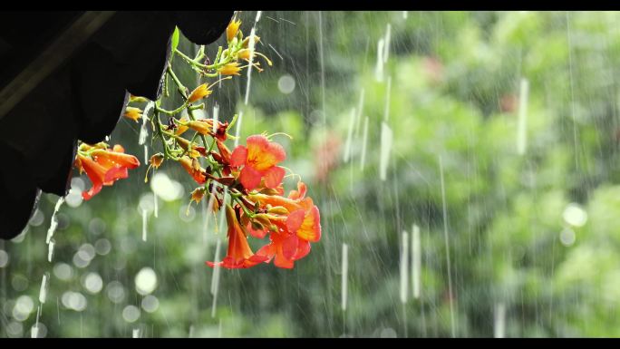
[[[256,28],[274,66],[247,104],[245,76],[223,82],[204,116],[242,112],[241,143],[293,136],[276,141],[321,210],[313,251],[214,276],[226,233],[188,208],[187,175],[144,184],[141,166],[82,202],[76,173],[51,263],[53,195],[0,242],[0,335],[31,335],[46,273],[48,337],[620,335],[620,14],[266,11]],[[110,143],[144,161],[139,131],[123,119]]]

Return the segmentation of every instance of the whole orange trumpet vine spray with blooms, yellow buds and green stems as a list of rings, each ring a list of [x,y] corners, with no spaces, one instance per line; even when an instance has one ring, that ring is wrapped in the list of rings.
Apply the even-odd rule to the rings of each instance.
[[[160,141],[162,151],[151,156],[149,170],[159,169],[164,162],[179,163],[199,185],[191,192],[190,202],[199,203],[206,199],[210,212],[225,210],[228,253],[222,261],[207,262],[209,267],[246,268],[273,260],[276,267],[292,268],[295,260],[310,252],[310,244],[321,238],[321,224],[318,208],[311,198],[306,197],[304,182],[299,180],[297,189],[285,195],[283,179],[286,170],[279,164],[286,160],[286,151],[271,140],[273,135],[266,134],[249,136],[245,145],[238,145],[231,151],[226,141],[235,138],[228,130],[236,123],[237,115],[230,123],[199,119],[194,115],[194,111],[205,108],[205,102],[201,101],[209,97],[216,83],[231,79],[250,66],[261,72],[255,57],[262,57],[268,65],[272,64],[254,49],[260,38],[256,35],[244,37],[240,25],[237,18],[228,24],[228,48],[219,47],[213,63],[206,57],[204,46],[200,47],[195,58],[181,53],[174,44],[174,35],[178,33],[173,34],[172,55],[179,55],[202,77],[220,79],[189,90],[169,64],[164,95],[168,94],[170,78],[182,97],[182,104],[168,110],[161,106],[160,99],[154,102],[153,114],[149,116],[135,105],[146,100],[131,95],[129,104],[133,106],[128,105],[123,115],[132,121],[147,118],[154,140]],[[242,62],[247,64],[241,65]],[[187,112],[186,117],[179,117],[182,111]],[[162,122],[161,116],[167,120]],[[102,186],[127,178],[127,170],[139,165],[139,161],[125,154],[120,145],[108,149],[105,143],[93,146],[82,143],[75,166],[92,180],[92,189],[82,194],[84,199],[91,199]],[[248,237],[268,241],[255,253],[248,244]]]

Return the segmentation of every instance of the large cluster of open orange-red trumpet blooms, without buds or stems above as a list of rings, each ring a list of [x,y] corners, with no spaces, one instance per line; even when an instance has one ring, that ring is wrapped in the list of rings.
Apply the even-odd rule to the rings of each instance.
[[[253,267],[272,259],[276,267],[291,268],[310,252],[310,243],[321,238],[319,210],[305,197],[305,183],[285,197],[285,170],[277,164],[286,159],[285,150],[264,135],[247,137],[231,154],[235,179],[231,186],[240,193],[238,204],[227,206],[228,254],[222,262],[207,262],[228,268]],[[247,236],[270,242],[252,253]]]

